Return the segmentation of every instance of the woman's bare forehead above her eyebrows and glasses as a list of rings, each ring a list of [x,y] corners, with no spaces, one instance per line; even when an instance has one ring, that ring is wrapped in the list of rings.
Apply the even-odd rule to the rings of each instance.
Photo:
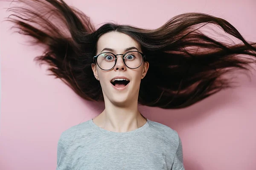
[[[140,44],[130,36],[119,32],[109,32],[99,37],[97,52],[102,51],[103,48],[112,48],[116,52],[122,52],[129,47],[136,47],[140,50]]]

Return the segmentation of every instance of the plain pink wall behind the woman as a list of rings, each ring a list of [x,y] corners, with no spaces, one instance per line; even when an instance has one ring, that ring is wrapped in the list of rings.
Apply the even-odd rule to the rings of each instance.
[[[255,0],[67,0],[95,25],[114,21],[157,28],[183,12],[223,17],[247,40],[256,41]],[[0,2],[0,20],[7,14]],[[58,79],[47,76],[33,58],[41,48],[0,23],[1,114],[0,170],[53,170],[62,131],[87,121],[102,105],[81,100]],[[256,170],[256,72],[251,81],[180,110],[140,107],[156,122],[177,130],[186,170]]]

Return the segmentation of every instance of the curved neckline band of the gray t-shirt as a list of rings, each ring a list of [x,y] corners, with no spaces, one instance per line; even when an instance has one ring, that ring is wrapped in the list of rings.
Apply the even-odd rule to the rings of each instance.
[[[113,131],[109,131],[109,130],[103,129],[102,127],[97,126],[93,122],[93,118],[90,119],[89,123],[96,130],[99,130],[101,133],[107,134],[108,136],[130,137],[130,136],[138,135],[138,134],[142,133],[144,130],[146,130],[150,126],[151,120],[147,119],[147,122],[142,127],[139,127],[139,128],[137,128],[135,130],[128,131],[128,132],[113,132]]]

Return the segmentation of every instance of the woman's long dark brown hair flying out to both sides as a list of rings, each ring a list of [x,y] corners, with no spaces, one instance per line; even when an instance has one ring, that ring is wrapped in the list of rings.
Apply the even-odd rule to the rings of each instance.
[[[138,103],[142,105],[187,107],[232,87],[231,79],[223,75],[235,69],[248,71],[250,63],[256,62],[256,43],[247,42],[226,20],[209,14],[180,14],[154,30],[113,23],[96,30],[89,17],[63,0],[18,2],[26,6],[9,8],[13,14],[8,20],[20,34],[33,37],[33,44],[45,45],[45,53],[36,60],[49,65],[52,75],[86,100],[104,100],[91,64],[99,37],[110,31],[134,38],[149,62],[140,84]],[[199,31],[209,23],[243,43],[224,43]]]

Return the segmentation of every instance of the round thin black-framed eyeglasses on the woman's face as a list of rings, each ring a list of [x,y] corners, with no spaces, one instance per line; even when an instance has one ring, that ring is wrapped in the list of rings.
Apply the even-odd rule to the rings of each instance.
[[[139,68],[145,59],[145,55],[139,51],[128,51],[125,54],[113,54],[104,52],[93,57],[93,62],[96,61],[99,68],[102,70],[111,70],[115,67],[117,56],[122,55],[122,60],[128,68]]]

